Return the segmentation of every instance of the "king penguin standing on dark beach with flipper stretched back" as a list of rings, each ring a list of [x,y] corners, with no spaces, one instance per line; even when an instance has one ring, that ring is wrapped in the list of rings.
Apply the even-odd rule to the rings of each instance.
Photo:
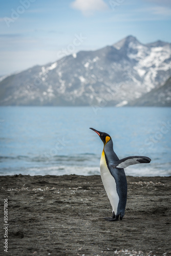
[[[106,221],[122,220],[125,213],[127,199],[127,181],[124,168],[138,163],[149,163],[151,159],[144,156],[131,156],[118,158],[113,150],[113,141],[109,134],[90,128],[98,134],[104,146],[100,159],[101,180],[112,205],[112,217],[104,218]]]

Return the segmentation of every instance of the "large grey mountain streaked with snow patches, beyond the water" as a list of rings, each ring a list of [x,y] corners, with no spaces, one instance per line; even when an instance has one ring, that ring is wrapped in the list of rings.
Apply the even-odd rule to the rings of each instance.
[[[122,106],[171,76],[171,44],[127,36],[112,46],[80,51],[5,77],[0,105]]]

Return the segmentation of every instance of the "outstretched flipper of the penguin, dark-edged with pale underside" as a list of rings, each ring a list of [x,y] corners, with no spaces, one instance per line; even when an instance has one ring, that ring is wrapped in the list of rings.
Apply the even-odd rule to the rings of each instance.
[[[114,168],[126,168],[129,165],[137,164],[137,163],[150,163],[151,159],[149,157],[141,157],[141,156],[132,156],[125,157],[115,162]]]

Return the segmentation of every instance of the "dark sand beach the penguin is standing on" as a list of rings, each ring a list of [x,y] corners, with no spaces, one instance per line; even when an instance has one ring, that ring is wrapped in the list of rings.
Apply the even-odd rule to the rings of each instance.
[[[127,177],[122,221],[100,176],[1,176],[8,198],[8,252],[1,255],[171,255],[171,176]]]

